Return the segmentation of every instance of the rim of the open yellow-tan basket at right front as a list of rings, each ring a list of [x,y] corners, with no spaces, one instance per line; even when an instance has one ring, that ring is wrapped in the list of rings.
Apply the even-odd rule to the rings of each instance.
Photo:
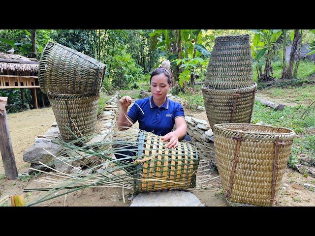
[[[242,130],[235,130],[232,128],[225,128],[222,126],[228,126],[228,125],[247,125],[247,126],[255,126],[255,127],[269,127],[269,128],[276,128],[276,129],[283,129],[286,131],[289,131],[287,133],[260,133],[260,132],[254,132],[254,131],[242,131]],[[257,134],[257,135],[295,135],[295,132],[292,129],[286,128],[286,127],[277,127],[277,126],[272,126],[272,125],[264,125],[264,124],[250,124],[250,123],[220,123],[220,124],[215,124],[213,126],[214,129],[221,129],[224,131],[232,131],[232,132],[238,132],[242,134]]]

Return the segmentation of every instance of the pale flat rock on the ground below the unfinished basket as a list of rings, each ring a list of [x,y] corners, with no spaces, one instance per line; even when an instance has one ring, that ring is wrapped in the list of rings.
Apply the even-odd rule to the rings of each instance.
[[[204,204],[191,192],[164,190],[140,193],[130,207],[204,207]]]

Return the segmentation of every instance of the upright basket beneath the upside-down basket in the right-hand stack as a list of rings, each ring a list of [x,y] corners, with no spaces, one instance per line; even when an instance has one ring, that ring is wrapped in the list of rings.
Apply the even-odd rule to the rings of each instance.
[[[219,123],[250,123],[257,84],[243,89],[202,88],[211,127]]]

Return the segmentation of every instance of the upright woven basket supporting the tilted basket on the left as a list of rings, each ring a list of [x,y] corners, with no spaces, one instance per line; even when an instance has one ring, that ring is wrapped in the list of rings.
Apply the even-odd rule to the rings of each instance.
[[[64,141],[91,135],[95,131],[99,95],[47,94]],[[69,131],[68,127],[71,131]]]

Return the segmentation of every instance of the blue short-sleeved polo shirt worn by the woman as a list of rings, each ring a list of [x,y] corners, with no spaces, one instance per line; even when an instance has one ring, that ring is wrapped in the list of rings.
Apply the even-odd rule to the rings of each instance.
[[[165,103],[160,107],[154,103],[152,95],[137,100],[135,103],[128,111],[128,118],[133,123],[138,121],[139,128],[147,132],[164,136],[172,131],[175,118],[185,118],[182,104],[172,101],[168,97],[166,97]]]

